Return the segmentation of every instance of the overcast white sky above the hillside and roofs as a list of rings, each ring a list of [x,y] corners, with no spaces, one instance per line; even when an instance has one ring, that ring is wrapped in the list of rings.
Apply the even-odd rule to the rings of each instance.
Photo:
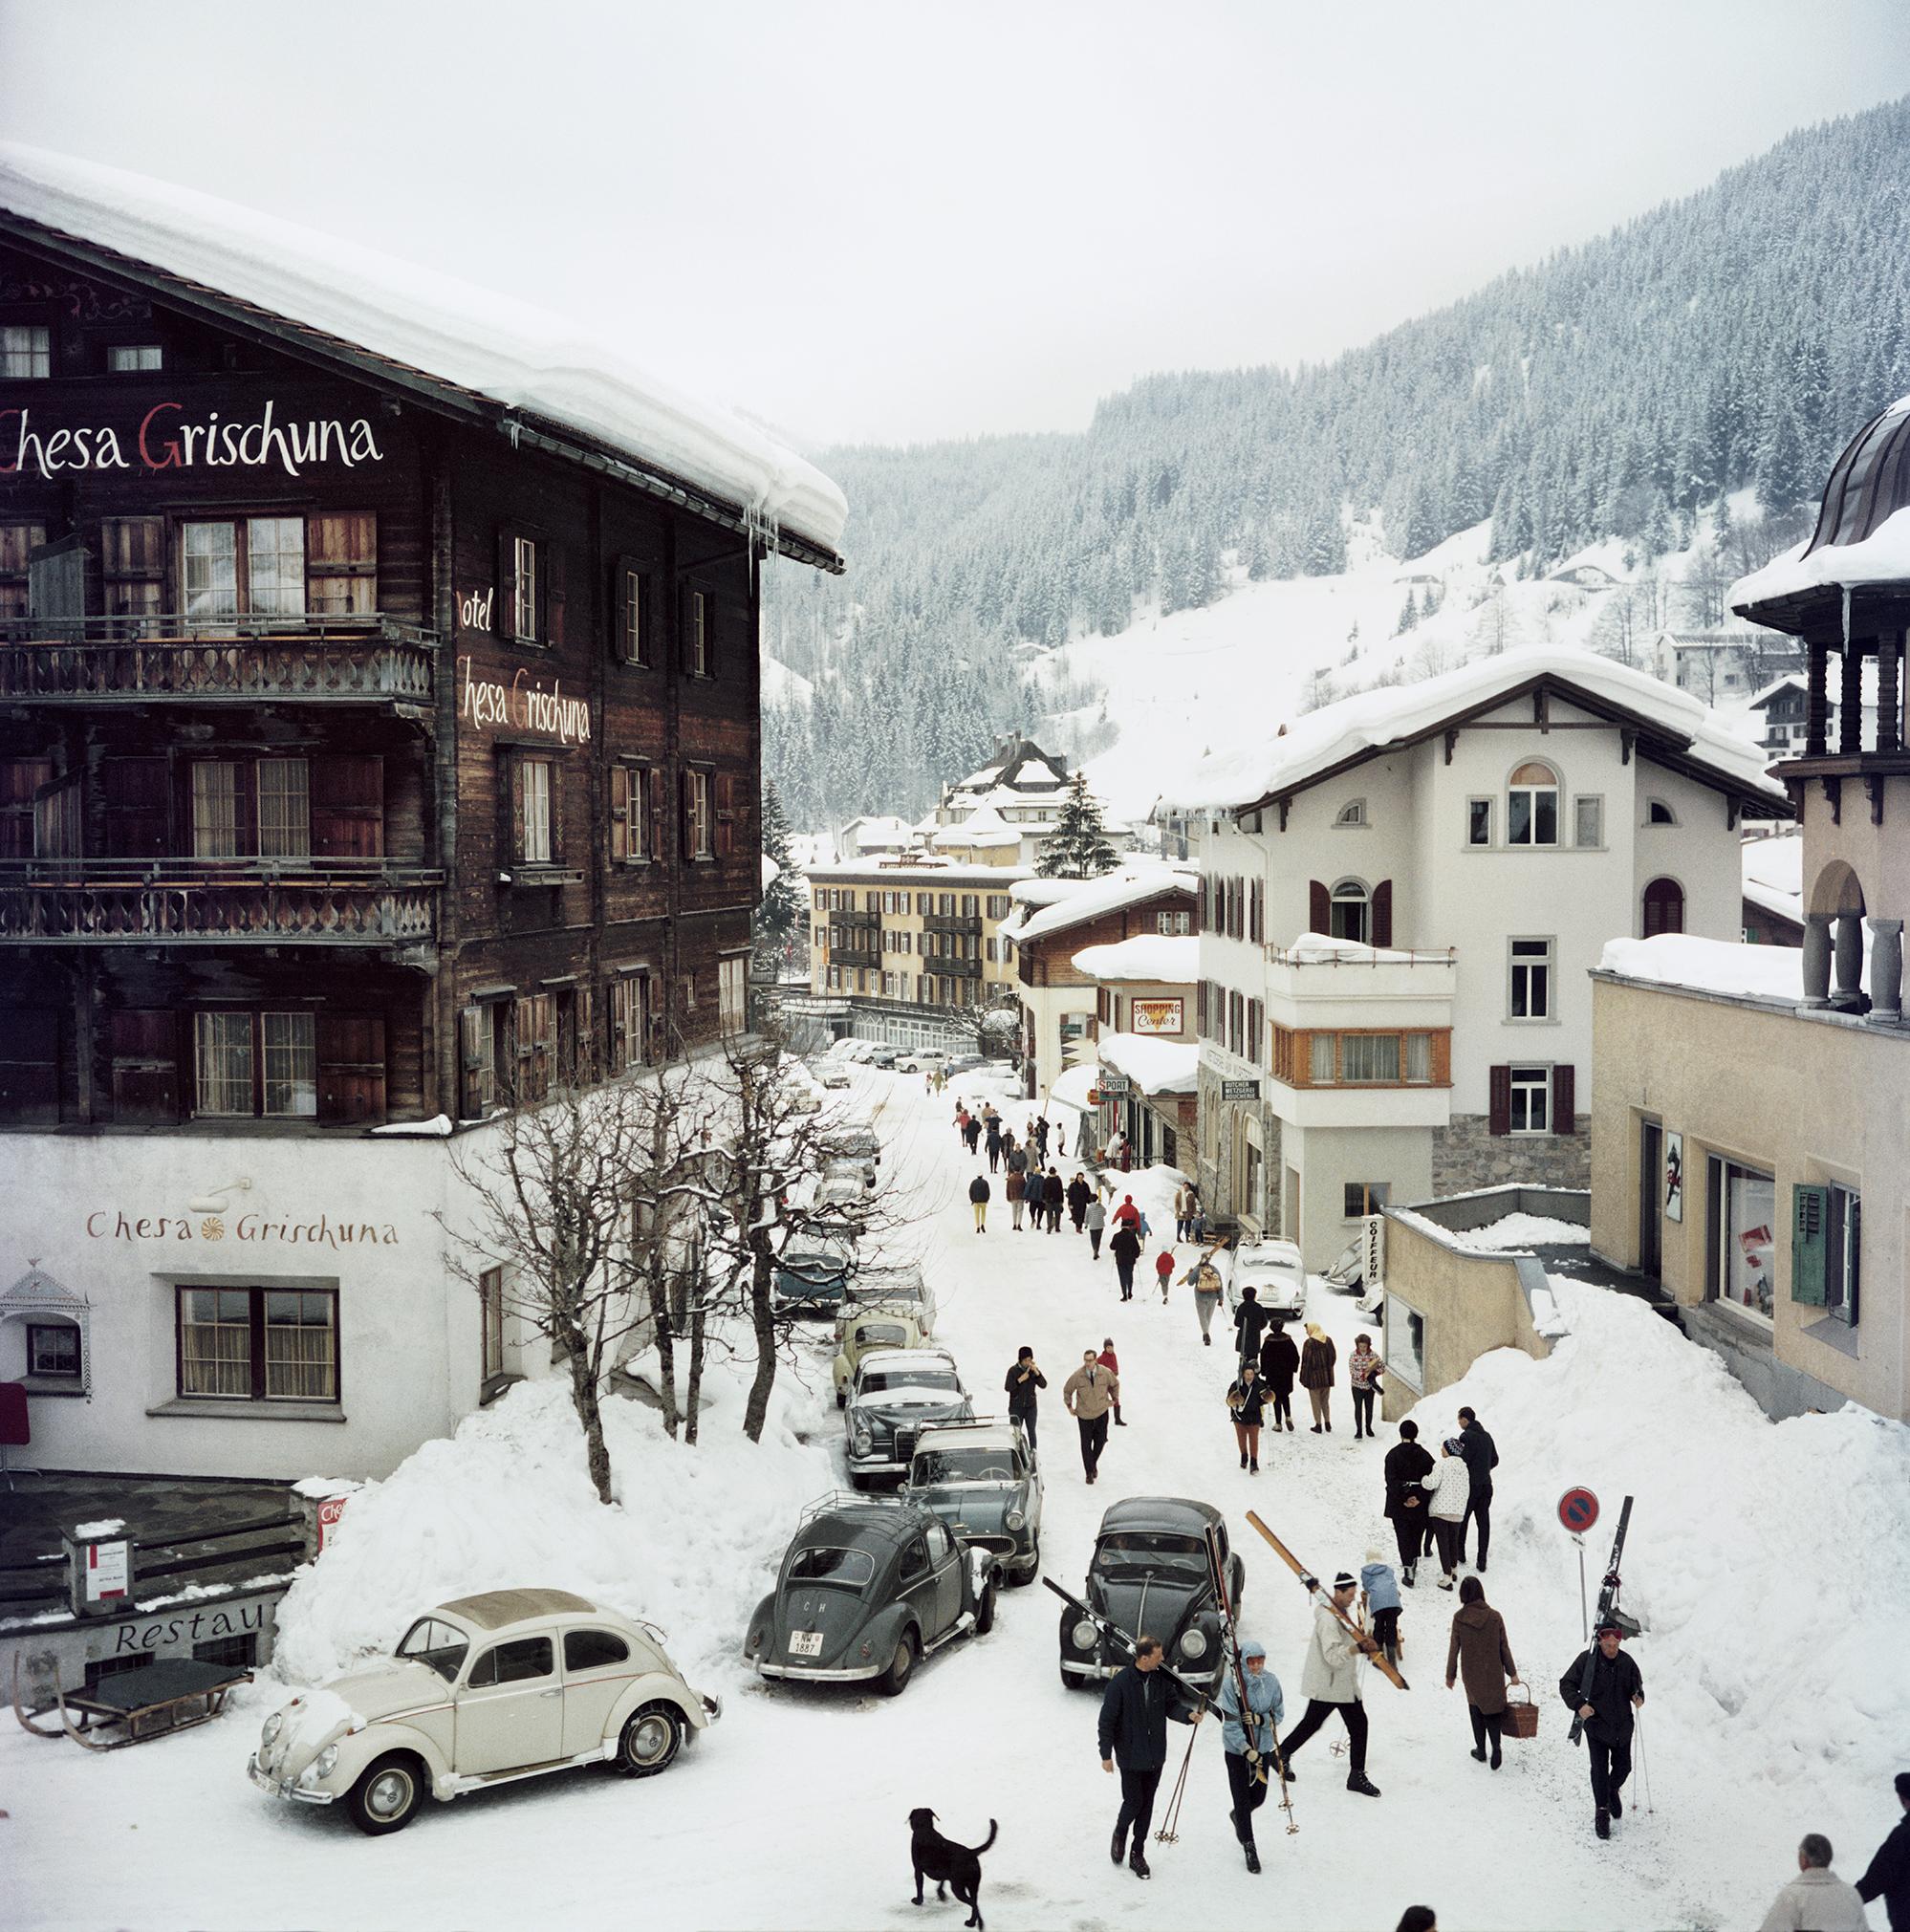
[[[0,0],[6,135],[531,296],[811,444],[1327,357],[1906,91],[1906,0]]]

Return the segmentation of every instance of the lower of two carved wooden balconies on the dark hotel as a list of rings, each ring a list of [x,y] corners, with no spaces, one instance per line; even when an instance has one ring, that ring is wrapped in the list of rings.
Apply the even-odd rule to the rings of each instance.
[[[191,860],[0,867],[0,945],[431,947],[442,871]]]

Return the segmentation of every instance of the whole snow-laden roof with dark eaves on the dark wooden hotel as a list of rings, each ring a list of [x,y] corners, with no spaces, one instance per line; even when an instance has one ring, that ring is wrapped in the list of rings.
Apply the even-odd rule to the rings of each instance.
[[[848,504],[813,464],[531,303],[12,141],[0,143],[0,234],[842,568]]]

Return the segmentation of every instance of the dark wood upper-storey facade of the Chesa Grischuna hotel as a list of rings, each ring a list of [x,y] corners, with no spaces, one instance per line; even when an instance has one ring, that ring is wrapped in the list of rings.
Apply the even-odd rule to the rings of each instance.
[[[475,1119],[740,1024],[734,526],[0,218],[0,1124]]]

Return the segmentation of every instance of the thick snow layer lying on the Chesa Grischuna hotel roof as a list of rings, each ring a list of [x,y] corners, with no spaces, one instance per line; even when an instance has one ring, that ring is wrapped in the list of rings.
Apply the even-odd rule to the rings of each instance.
[[[0,143],[0,211],[371,350],[525,419],[579,431],[830,558],[842,549],[848,502],[813,464],[651,375],[628,350],[514,296],[216,195],[14,141]]]

